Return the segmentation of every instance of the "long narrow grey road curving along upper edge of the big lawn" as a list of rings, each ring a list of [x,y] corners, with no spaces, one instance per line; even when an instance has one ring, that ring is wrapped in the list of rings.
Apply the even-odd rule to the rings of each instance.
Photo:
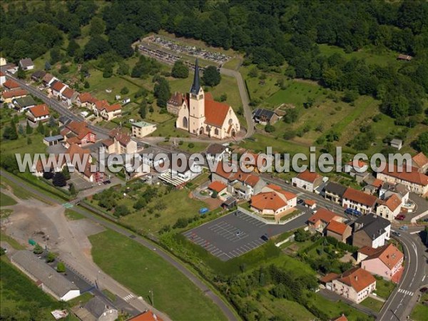
[[[39,192],[39,190],[32,188],[27,183],[24,183],[22,180],[15,178],[14,175],[11,175],[9,173],[4,172],[4,170],[0,170],[0,174],[2,176],[6,177],[8,180],[11,180],[13,183],[18,185],[20,188],[23,188],[24,190],[28,190],[30,193],[38,196],[42,200],[46,200],[49,203],[61,204],[61,202],[59,202],[55,198],[51,198],[48,195]],[[85,216],[89,220],[93,220],[94,222],[96,222],[100,225],[103,225],[106,228],[114,230],[117,233],[121,233],[122,235],[125,235],[128,238],[131,238],[131,240],[135,240],[136,242],[140,243],[141,245],[148,248],[149,250],[155,249],[155,247],[154,247],[155,245],[153,245],[153,243],[149,242],[148,240],[146,240],[144,238],[139,237],[138,235],[134,235],[133,233],[126,230],[125,228],[121,228],[120,226],[118,226],[116,224],[113,224],[113,223],[108,222],[106,220],[102,220],[101,218],[96,217],[96,215],[92,215],[91,213],[86,212],[86,210],[83,210],[83,209],[79,208],[78,206],[75,206],[73,208],[73,210],[75,212]],[[222,310],[223,314],[228,318],[228,320],[238,320],[235,317],[233,310],[231,310],[230,307],[228,305],[226,305],[225,302],[223,302],[223,300],[218,295],[216,295],[213,291],[211,291],[210,288],[207,285],[205,285],[204,282],[202,282],[198,277],[193,275],[193,272],[190,272],[190,270],[188,270],[188,268],[185,267],[185,265],[183,265],[182,263],[175,260],[175,258],[173,258],[169,253],[165,252],[162,248],[158,248],[157,246],[156,246],[156,253],[159,256],[161,256],[161,258],[163,258],[165,261],[167,261],[168,263],[173,265],[177,270],[182,272],[185,275],[185,277],[187,277],[190,281],[192,281],[193,284],[195,284],[200,290],[202,290],[202,292],[205,295],[210,297],[210,299],[213,300],[215,305],[218,305],[220,310]]]

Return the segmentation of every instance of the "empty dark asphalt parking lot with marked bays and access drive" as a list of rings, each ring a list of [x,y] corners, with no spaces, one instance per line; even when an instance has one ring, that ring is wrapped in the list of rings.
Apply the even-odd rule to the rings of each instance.
[[[305,225],[310,211],[285,225],[260,222],[236,210],[183,233],[193,243],[202,246],[220,260],[227,261],[258,248],[268,238]]]

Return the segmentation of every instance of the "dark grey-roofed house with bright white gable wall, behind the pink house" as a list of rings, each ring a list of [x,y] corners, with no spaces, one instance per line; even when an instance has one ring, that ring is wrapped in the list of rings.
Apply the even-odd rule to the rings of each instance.
[[[381,218],[376,214],[363,215],[355,220],[354,233],[352,235],[352,245],[362,248],[379,248],[389,240],[391,233],[391,222],[386,218]]]

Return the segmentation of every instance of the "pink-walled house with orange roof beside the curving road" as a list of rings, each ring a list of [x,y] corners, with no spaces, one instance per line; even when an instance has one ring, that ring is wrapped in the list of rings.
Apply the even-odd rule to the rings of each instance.
[[[404,255],[392,244],[379,248],[364,247],[358,250],[358,262],[361,268],[386,280],[391,280],[403,264]]]

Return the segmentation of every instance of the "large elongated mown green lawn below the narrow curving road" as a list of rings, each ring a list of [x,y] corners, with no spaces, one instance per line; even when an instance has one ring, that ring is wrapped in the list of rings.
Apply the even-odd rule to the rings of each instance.
[[[216,305],[160,256],[112,230],[89,236],[92,256],[104,272],[150,302],[173,320],[226,320]]]

